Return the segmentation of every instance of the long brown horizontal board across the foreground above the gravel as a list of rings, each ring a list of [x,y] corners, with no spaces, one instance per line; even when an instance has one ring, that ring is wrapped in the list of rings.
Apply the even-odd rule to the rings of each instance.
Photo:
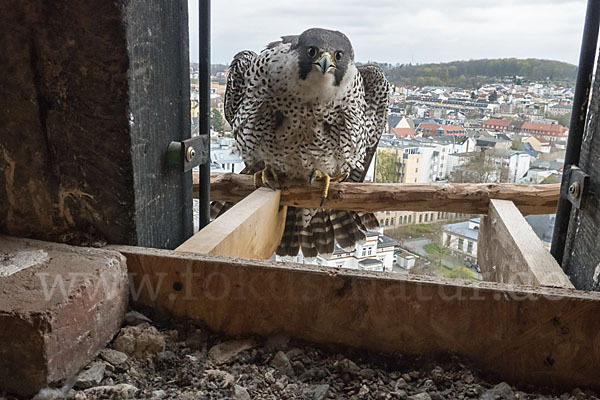
[[[453,353],[515,384],[600,388],[600,294],[113,247],[137,304],[230,335]]]

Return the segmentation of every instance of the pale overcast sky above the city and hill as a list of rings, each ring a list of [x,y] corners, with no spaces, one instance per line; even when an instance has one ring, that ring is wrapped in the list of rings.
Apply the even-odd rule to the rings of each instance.
[[[191,59],[198,60],[198,0],[190,3]],[[344,32],[356,60],[426,63],[545,58],[577,64],[585,0],[213,0],[212,62],[261,51],[282,35]]]

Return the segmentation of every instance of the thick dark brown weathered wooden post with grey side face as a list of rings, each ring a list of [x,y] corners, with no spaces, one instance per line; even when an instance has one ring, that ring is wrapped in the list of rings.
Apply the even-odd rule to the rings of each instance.
[[[0,232],[175,248],[193,234],[187,2],[0,2]],[[77,49],[82,49],[79,51]]]

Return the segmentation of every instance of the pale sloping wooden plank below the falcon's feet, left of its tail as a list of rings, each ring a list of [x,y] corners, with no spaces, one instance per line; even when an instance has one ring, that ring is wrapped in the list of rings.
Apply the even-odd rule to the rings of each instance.
[[[255,190],[217,220],[196,233],[177,251],[230,257],[269,258],[283,234],[286,207],[279,191]]]

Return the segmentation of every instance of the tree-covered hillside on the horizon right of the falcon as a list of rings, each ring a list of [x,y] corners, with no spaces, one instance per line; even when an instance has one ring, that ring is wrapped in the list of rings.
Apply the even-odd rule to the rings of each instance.
[[[398,86],[454,86],[475,89],[504,78],[520,81],[552,81],[574,85],[577,67],[561,61],[536,58],[499,58],[454,61],[441,64],[380,64],[388,80]]]

